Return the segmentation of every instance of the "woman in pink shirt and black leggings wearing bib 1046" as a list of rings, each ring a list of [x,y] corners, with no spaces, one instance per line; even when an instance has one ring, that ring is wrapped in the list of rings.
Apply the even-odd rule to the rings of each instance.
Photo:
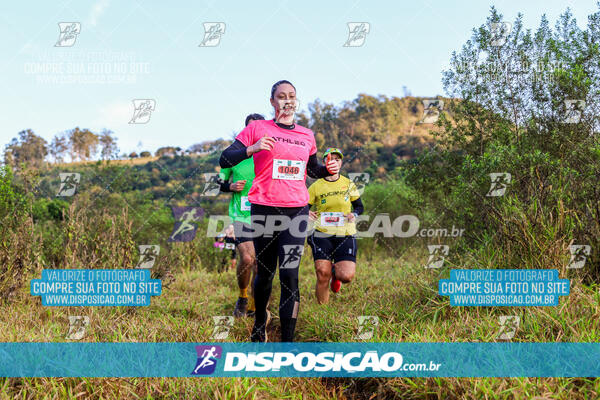
[[[219,164],[230,168],[253,157],[256,177],[248,193],[258,273],[254,281],[256,314],[250,339],[267,341],[267,302],[279,264],[281,341],[292,342],[300,304],[298,268],[308,225],[306,175],[335,175],[339,166],[317,159],[313,132],[294,123],[296,88],[279,81],[271,88],[275,118],[253,121],[223,151]]]

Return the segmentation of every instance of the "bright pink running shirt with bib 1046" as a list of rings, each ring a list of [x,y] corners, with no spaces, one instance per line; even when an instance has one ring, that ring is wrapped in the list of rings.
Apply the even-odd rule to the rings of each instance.
[[[261,137],[275,139],[271,149],[254,153],[254,174],[248,201],[275,207],[304,207],[308,204],[306,166],[309,156],[317,152],[314,133],[303,126],[280,128],[273,120],[252,121],[236,140],[246,147]]]

